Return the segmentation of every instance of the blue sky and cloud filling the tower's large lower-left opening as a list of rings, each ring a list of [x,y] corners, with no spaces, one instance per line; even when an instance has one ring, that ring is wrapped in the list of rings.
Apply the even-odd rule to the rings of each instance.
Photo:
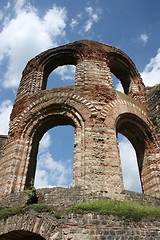
[[[39,143],[35,187],[68,187],[73,178],[74,128],[58,126]]]

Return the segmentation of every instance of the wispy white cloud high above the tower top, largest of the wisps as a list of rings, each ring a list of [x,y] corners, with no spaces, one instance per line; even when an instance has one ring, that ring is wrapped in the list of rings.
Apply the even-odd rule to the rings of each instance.
[[[88,32],[92,28],[93,23],[98,22],[98,20],[100,19],[102,10],[101,9],[96,9],[94,11],[91,6],[86,7],[85,10],[88,13],[88,20],[87,20],[87,22],[84,26],[84,31]]]

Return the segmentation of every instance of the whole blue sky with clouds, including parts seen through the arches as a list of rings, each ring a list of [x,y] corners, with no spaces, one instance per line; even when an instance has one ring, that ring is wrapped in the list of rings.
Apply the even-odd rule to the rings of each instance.
[[[22,70],[49,48],[81,39],[100,41],[129,55],[146,86],[160,83],[159,9],[159,0],[0,0],[0,134],[8,132]],[[74,70],[56,69],[48,88],[73,84]],[[118,81],[115,85],[120,90]],[[139,191],[133,150],[122,137],[120,146],[125,188]],[[72,159],[73,128],[47,132],[39,148],[36,186],[70,185]]]

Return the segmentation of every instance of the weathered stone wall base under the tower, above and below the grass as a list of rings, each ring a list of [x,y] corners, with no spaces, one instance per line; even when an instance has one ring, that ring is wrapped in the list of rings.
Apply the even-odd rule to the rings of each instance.
[[[103,195],[103,193],[102,193]],[[106,240],[106,239],[145,239],[160,238],[160,218],[144,217],[141,220],[118,217],[109,214],[65,213],[66,207],[89,199],[110,199],[102,195],[85,194],[80,188],[43,188],[33,191],[12,193],[0,200],[1,208],[27,206],[42,203],[54,206],[60,215],[52,212],[37,212],[25,208],[14,216],[0,219],[0,239],[37,240]],[[160,206],[160,199],[141,193],[124,190],[114,196],[123,201],[145,202]],[[112,196],[113,199],[113,196]],[[32,201],[31,201],[32,200]]]

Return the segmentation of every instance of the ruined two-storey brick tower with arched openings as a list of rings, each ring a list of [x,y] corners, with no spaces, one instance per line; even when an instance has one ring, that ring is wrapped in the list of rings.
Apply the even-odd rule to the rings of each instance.
[[[46,89],[49,74],[67,64],[76,66],[75,85]],[[121,81],[124,94],[113,89],[111,73]],[[117,143],[117,133],[122,133],[136,151],[144,194],[160,197],[159,92],[159,86],[146,89],[131,59],[109,45],[84,40],[39,54],[23,71],[8,136],[0,136],[1,197],[29,188],[39,141],[60,125],[72,125],[75,132],[73,187],[62,192],[72,191],[75,201],[122,199]],[[51,190],[42,192],[49,203]]]

